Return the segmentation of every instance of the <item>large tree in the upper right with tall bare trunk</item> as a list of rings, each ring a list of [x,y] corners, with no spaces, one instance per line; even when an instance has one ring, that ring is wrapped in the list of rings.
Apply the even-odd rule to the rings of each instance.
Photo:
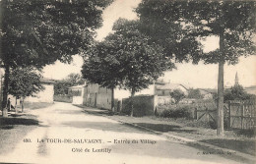
[[[217,135],[219,136],[224,135],[224,63],[236,64],[239,56],[255,55],[253,43],[256,27],[255,11],[255,1],[143,0],[137,9],[143,24],[153,28],[152,30],[157,28],[156,30],[161,33],[162,38],[157,38],[159,42],[168,44],[171,34],[177,35],[179,39],[174,42],[178,43],[183,42],[182,40],[186,42],[187,37],[191,38],[192,42],[189,41],[188,45],[177,46],[179,49],[177,52],[181,53],[176,54],[175,58],[181,60],[192,58],[194,63],[203,60],[206,64],[219,64],[217,122]],[[161,28],[171,28],[176,24],[181,28],[177,32],[174,30],[164,36],[165,34],[163,35],[161,31],[166,30],[151,26],[157,23],[161,23],[159,25]],[[162,27],[162,25],[167,26]],[[213,35],[219,36],[220,48],[205,53],[202,45],[196,40]],[[176,47],[171,44],[165,48],[165,52],[169,50],[171,53],[168,55],[173,57],[173,49],[175,50]],[[196,51],[198,53],[191,53]]]

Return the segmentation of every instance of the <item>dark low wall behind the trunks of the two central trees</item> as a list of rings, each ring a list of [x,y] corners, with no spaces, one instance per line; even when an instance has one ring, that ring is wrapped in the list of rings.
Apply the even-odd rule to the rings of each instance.
[[[131,114],[131,98],[122,99],[121,112],[126,115]],[[135,117],[154,115],[155,96],[138,95],[133,98],[133,114]]]

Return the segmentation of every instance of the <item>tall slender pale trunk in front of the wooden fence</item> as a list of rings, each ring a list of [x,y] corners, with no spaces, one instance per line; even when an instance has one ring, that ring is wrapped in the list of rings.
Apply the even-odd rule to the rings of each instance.
[[[220,34],[220,61],[218,76],[217,136],[224,136],[224,33]]]

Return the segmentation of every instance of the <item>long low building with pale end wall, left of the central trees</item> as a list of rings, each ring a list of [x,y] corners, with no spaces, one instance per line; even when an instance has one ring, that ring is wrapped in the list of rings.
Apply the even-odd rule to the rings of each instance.
[[[72,86],[69,93],[73,96],[72,104],[87,105],[96,108],[111,109],[111,89],[99,86],[97,83]]]

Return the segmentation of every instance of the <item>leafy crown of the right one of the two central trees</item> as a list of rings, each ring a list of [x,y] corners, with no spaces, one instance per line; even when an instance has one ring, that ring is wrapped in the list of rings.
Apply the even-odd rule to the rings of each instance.
[[[164,71],[174,68],[162,47],[139,28],[137,21],[119,19],[113,26],[115,33],[107,37],[115,45],[115,56],[121,62],[123,87],[132,93],[147,88]]]

